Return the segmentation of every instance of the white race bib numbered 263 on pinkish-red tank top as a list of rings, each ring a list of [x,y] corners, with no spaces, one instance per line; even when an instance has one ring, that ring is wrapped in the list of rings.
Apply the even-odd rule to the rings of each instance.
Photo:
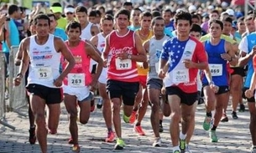
[[[86,85],[85,74],[68,74],[68,85],[71,87],[84,87]]]

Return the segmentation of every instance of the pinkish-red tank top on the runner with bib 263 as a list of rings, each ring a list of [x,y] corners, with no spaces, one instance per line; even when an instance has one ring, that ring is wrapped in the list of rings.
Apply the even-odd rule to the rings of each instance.
[[[74,48],[69,47],[68,41],[65,41],[65,45],[71,50],[76,64],[74,68],[71,69],[71,72],[65,77],[63,83],[71,87],[88,86],[91,84],[91,73],[89,71],[91,58],[86,54],[85,42],[81,40],[80,43]],[[62,69],[65,69],[67,63],[65,62],[63,56],[61,61]]]

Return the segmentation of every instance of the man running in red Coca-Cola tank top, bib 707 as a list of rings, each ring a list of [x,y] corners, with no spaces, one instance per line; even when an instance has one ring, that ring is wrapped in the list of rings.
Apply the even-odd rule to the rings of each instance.
[[[112,116],[118,137],[115,150],[123,150],[124,141],[121,132],[120,106],[123,99],[123,120],[128,123],[133,111],[134,99],[138,93],[138,72],[136,62],[146,62],[147,56],[138,35],[130,31],[130,13],[121,9],[116,13],[117,30],[107,35],[103,60],[112,54],[107,71],[107,92],[112,101]],[[119,42],[119,43],[117,43]]]

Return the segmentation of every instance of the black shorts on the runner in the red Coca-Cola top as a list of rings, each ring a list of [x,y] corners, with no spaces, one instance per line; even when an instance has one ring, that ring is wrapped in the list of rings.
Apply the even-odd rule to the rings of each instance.
[[[139,82],[123,82],[113,79],[107,80],[107,93],[110,99],[123,98],[124,105],[134,105],[138,93]]]

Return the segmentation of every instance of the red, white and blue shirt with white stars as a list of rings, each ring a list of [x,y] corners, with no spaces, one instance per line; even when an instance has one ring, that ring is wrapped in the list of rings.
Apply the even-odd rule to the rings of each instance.
[[[206,51],[201,42],[191,37],[185,41],[170,38],[163,44],[161,59],[169,63],[164,79],[165,87],[178,86],[185,93],[197,92],[198,69],[186,69],[183,61],[189,59],[195,63],[207,63]]]

